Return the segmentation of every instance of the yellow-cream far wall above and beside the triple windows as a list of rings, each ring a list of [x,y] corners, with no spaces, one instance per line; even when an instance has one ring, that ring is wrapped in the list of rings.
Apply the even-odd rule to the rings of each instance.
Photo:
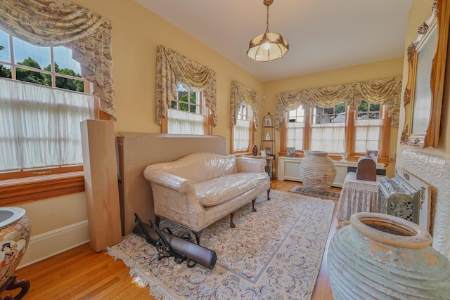
[[[318,88],[322,86],[334,86],[338,84],[347,84],[356,81],[366,81],[374,79],[383,79],[397,77],[402,75],[404,59],[395,58],[392,60],[383,60],[376,63],[365,65],[356,65],[338,70],[307,74],[304,76],[270,81],[264,84],[264,96],[266,100],[259,105],[260,112],[271,112],[275,115],[275,97],[277,93],[285,91],[298,91],[302,89]],[[390,159],[387,167],[387,175],[394,174],[395,152],[397,150],[397,132],[398,129],[391,127],[390,140]],[[257,135],[258,137],[260,136]],[[276,132],[277,149],[280,149],[280,133]],[[259,145],[259,144],[258,144]]]

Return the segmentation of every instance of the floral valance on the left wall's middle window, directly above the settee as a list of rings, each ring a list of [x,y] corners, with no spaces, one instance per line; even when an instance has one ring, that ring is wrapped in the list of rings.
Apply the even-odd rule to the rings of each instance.
[[[175,100],[178,83],[189,89],[203,91],[205,105],[210,109],[214,127],[216,115],[216,72],[180,53],[158,46],[156,57],[156,119],[161,124],[172,100]]]

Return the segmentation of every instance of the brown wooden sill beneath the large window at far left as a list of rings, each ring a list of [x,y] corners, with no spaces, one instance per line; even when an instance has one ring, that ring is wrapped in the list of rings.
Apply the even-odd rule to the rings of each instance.
[[[8,206],[79,192],[84,192],[83,171],[8,179],[0,181],[0,205]]]

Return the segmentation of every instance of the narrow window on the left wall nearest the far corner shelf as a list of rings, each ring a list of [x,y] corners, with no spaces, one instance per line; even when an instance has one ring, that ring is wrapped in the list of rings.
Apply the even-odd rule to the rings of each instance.
[[[254,128],[252,122],[252,109],[248,105],[240,105],[236,125],[233,127],[233,153],[250,152],[250,148],[254,143],[254,133],[251,129]]]

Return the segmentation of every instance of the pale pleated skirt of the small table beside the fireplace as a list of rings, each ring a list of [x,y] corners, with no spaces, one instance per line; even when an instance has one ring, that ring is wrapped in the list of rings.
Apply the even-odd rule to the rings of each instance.
[[[356,173],[349,172],[342,185],[336,217],[349,220],[356,212],[378,212],[378,186],[384,177],[377,176],[376,181],[362,181],[356,179]]]

